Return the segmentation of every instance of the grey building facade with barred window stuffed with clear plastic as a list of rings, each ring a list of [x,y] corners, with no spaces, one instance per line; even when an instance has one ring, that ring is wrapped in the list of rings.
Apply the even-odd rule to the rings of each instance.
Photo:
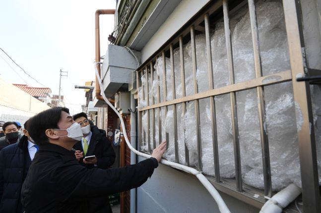
[[[151,154],[166,139],[164,158],[203,173],[231,212],[258,212],[294,183],[302,195],[284,211],[317,213],[320,14],[318,0],[120,0],[96,61],[101,90],[133,147]],[[108,126],[106,104],[94,105]],[[219,211],[193,175],[165,165],[122,196],[124,212]]]

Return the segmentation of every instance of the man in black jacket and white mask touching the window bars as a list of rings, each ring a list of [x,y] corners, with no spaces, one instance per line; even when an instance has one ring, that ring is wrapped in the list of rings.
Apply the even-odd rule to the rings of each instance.
[[[67,108],[40,112],[29,120],[28,127],[39,152],[22,185],[21,201],[26,213],[88,213],[92,199],[142,185],[166,150],[164,141],[150,159],[137,164],[88,169],[71,151],[83,134]]]

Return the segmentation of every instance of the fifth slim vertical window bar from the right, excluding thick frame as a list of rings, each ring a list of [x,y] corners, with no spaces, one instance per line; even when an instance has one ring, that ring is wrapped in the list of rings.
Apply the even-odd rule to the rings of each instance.
[[[184,68],[184,50],[183,50],[183,36],[179,37],[180,41],[180,63],[181,63],[181,81],[182,81],[182,92],[183,92],[183,97],[186,96],[186,90],[185,90],[185,68]],[[186,102],[182,103],[183,105],[183,117],[186,113]],[[184,131],[184,130],[183,130]],[[189,157],[189,149],[186,145],[185,142],[185,137],[184,137],[184,146],[185,146],[185,162],[187,166],[190,166],[190,157]]]

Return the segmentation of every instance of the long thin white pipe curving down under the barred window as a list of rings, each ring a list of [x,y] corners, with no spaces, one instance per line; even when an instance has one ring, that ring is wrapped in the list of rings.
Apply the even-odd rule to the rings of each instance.
[[[98,79],[98,83],[99,83],[99,86],[100,88],[103,88],[103,85],[101,83],[101,79],[100,79],[100,76],[98,74],[98,70],[97,70],[97,65],[100,66],[100,64],[98,64],[97,62],[95,62],[95,72],[96,72],[96,75],[97,75],[97,79]],[[137,88],[138,89],[138,88]],[[124,120],[121,116],[121,114],[117,111],[117,109],[108,101],[106,95],[104,92],[101,92],[105,102],[110,106],[112,107],[112,109],[116,112],[116,114],[118,115],[118,117],[120,118],[121,120],[121,125],[122,125],[122,128],[123,128],[123,133],[124,133],[124,137],[125,137],[125,141],[126,141],[126,144],[128,146],[128,148],[131,150],[131,152],[133,152],[134,154],[138,155],[138,156],[141,156],[141,157],[144,157],[144,158],[150,158],[151,156],[150,155],[147,155],[145,153],[141,153],[137,150],[135,150],[131,145],[130,145],[130,142],[128,140],[128,137],[127,137],[127,134],[126,134],[126,127],[125,127],[125,123],[124,123]],[[182,170],[182,171],[185,171],[185,172],[188,172],[190,174],[193,174],[196,176],[196,178],[201,182],[201,184],[203,184],[203,186],[207,189],[207,191],[209,192],[209,194],[211,194],[211,196],[214,198],[214,200],[216,201],[217,203],[217,206],[218,206],[218,209],[221,213],[230,213],[230,210],[227,208],[225,202],[223,201],[221,195],[217,192],[217,190],[214,188],[214,186],[207,180],[207,178],[199,171],[197,171],[196,169],[193,169],[191,167],[188,167],[186,165],[182,165],[182,164],[179,164],[179,163],[176,163],[176,162],[172,162],[172,161],[168,161],[168,160],[164,160],[162,159],[160,161],[160,163],[164,164],[164,165],[168,165],[168,166],[171,166],[173,168],[177,168],[179,170]]]

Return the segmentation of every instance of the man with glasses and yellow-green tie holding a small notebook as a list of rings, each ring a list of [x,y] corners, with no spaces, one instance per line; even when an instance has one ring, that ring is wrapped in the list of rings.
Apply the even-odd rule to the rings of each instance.
[[[83,133],[81,141],[74,146],[76,159],[87,168],[109,168],[115,162],[116,155],[106,137],[106,131],[90,125],[84,112],[75,114],[72,117],[74,121],[80,124]],[[84,159],[86,156],[95,157]]]

